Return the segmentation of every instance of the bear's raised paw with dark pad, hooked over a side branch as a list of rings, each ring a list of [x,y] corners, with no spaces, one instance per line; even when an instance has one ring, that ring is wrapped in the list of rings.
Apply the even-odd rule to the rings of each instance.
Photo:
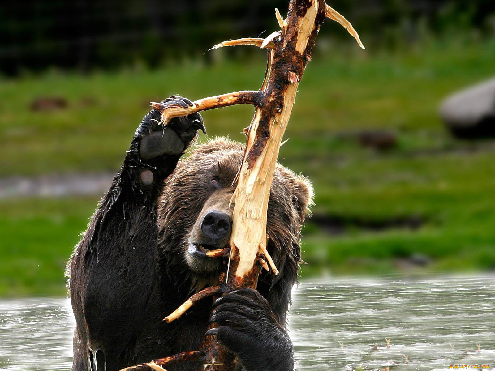
[[[173,95],[161,102],[163,107],[188,107],[192,102],[184,97]],[[162,155],[180,155],[200,129],[206,133],[203,120],[199,113],[184,117],[176,117],[164,126],[159,124],[161,112],[153,108],[144,117],[136,131],[135,138],[140,139],[139,155],[143,160],[153,159]]]

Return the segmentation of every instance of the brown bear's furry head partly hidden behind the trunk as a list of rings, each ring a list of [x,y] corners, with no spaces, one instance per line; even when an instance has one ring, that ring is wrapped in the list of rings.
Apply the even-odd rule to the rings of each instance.
[[[159,246],[167,265],[192,276],[217,277],[220,259],[205,255],[229,245],[234,179],[244,146],[225,138],[198,144],[164,183],[158,204]],[[277,163],[267,213],[268,250],[279,271],[295,272],[300,230],[312,204],[309,180]],[[184,266],[183,266],[184,267]]]

